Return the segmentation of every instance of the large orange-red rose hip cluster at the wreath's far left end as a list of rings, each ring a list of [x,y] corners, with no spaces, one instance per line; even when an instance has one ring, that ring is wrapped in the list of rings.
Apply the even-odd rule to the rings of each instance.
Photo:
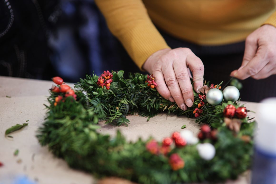
[[[54,93],[63,93],[64,94],[64,97],[68,97],[68,96],[73,96],[73,98],[76,100],[77,98],[77,95],[75,94],[75,91],[72,90],[70,88],[70,86],[68,86],[67,84],[65,84],[63,82],[63,79],[60,78],[60,77],[53,77],[52,78],[52,81],[54,83],[56,83],[57,85],[59,86],[52,86],[52,88],[50,89],[52,92]],[[55,98],[55,103],[54,103],[54,106],[57,106],[57,104],[60,102],[60,101],[64,101],[63,97],[61,95],[57,96]]]

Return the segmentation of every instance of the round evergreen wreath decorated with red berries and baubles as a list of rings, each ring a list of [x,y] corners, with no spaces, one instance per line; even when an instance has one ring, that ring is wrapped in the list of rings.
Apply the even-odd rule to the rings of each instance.
[[[54,77],[39,143],[72,168],[138,183],[222,182],[250,168],[254,122],[231,95],[238,92],[235,87],[225,88],[223,99],[221,84],[206,83],[200,93],[194,91],[193,106],[182,111],[158,93],[153,75],[125,79],[123,73],[86,75],[74,89]],[[128,114],[149,120],[161,112],[196,117],[195,123],[204,125],[197,137],[184,129],[168,132],[162,142],[127,142],[119,131],[115,137],[97,131],[99,120],[127,126]]]

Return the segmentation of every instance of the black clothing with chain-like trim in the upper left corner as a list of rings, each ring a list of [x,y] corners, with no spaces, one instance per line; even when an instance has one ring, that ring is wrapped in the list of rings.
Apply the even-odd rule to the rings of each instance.
[[[54,75],[47,36],[57,1],[0,1],[0,75],[45,79]],[[47,76],[47,77],[46,77]]]

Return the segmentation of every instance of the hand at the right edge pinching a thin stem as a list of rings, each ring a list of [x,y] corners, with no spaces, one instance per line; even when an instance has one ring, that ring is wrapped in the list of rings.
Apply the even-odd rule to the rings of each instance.
[[[263,25],[246,38],[241,67],[230,76],[243,80],[263,79],[273,74],[276,74],[276,28]]]

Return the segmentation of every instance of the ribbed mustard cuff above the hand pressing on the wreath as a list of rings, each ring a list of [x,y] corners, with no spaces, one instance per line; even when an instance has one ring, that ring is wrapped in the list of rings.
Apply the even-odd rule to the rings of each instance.
[[[118,39],[136,65],[142,69],[144,62],[154,52],[170,48],[158,30],[150,23],[137,24]]]

